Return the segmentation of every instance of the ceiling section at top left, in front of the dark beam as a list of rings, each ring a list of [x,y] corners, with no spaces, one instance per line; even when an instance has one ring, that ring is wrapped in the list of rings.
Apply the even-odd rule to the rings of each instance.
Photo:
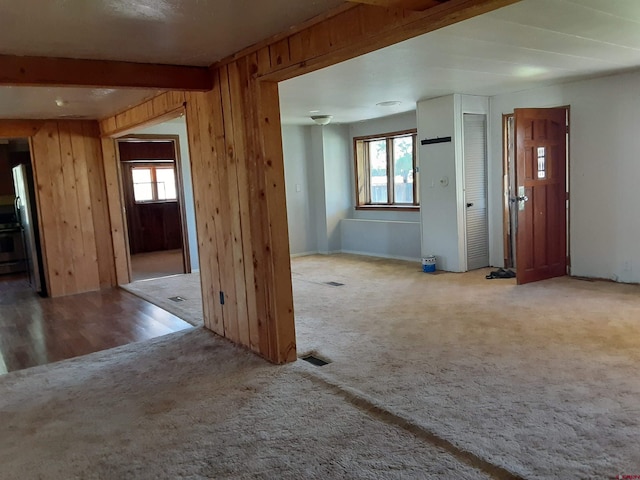
[[[0,54],[208,66],[344,0],[0,0]]]

